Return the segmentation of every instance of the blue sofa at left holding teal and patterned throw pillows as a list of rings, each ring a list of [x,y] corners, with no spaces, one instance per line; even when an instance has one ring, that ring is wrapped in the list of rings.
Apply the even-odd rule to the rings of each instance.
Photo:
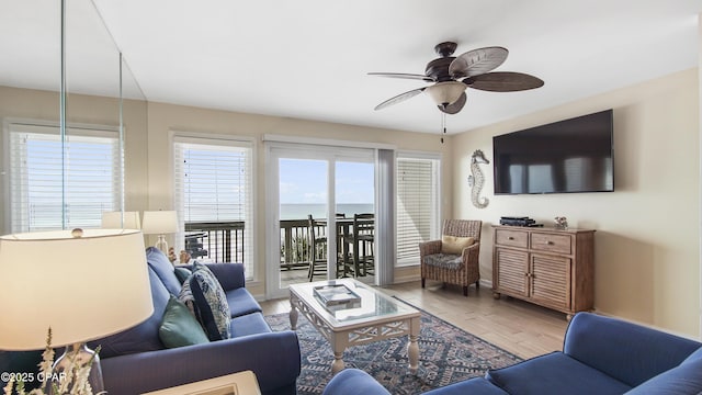
[[[233,317],[230,338],[169,349],[159,338],[159,326],[169,297],[180,293],[181,282],[160,250],[150,247],[146,257],[154,314],[131,329],[89,343],[93,349],[101,347],[102,375],[109,394],[141,394],[246,370],[256,373],[263,395],[297,393],[297,335],[291,330],[271,331],[260,305],[245,287],[242,264],[207,264],[227,296]],[[125,292],[128,290],[125,284]],[[118,312],[120,306],[105,306],[103,312],[95,312],[95,319],[101,314]],[[41,350],[0,352],[0,371],[36,371],[39,360]],[[0,384],[4,387],[4,383]]]

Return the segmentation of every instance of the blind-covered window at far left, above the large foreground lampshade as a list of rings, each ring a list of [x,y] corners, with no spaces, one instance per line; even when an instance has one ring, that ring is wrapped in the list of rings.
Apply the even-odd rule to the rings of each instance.
[[[120,210],[117,131],[71,127],[64,153],[58,126],[11,123],[7,131],[12,233],[100,227],[102,212]]]

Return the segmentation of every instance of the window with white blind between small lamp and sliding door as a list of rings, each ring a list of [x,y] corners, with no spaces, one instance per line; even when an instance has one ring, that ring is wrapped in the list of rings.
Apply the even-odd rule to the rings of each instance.
[[[242,262],[253,278],[252,144],[247,142],[176,137],[176,210],[185,239],[207,253],[199,260]]]

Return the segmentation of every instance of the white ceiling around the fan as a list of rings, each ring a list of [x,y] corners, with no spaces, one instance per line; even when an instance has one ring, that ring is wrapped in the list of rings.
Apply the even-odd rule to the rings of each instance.
[[[114,91],[101,82],[112,72],[98,48],[109,36],[82,31],[94,29],[80,16],[94,12],[90,0],[67,1],[76,31],[67,45],[86,47],[69,52],[69,89]],[[366,72],[422,74],[444,41],[458,43],[456,55],[507,47],[498,71],[545,81],[523,92],[468,89],[463,111],[448,116],[449,133],[695,67],[702,12],[702,0],[93,2],[149,101],[438,132],[441,113],[426,95],[373,110],[424,82]],[[56,88],[56,49],[46,42],[56,35],[57,7],[2,0],[0,11],[0,53],[15,57],[0,61],[0,84]]]

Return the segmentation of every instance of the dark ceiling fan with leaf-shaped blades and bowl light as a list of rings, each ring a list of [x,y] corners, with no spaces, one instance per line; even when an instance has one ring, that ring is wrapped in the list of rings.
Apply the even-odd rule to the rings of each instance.
[[[492,71],[500,66],[509,52],[507,48],[492,46],[468,50],[457,57],[452,56],[457,44],[445,42],[434,47],[441,57],[427,64],[423,75],[404,72],[369,72],[370,76],[417,79],[434,82],[429,87],[412,89],[400,93],[375,106],[382,110],[414,98],[421,92],[428,93],[440,111],[456,114],[466,102],[466,88],[491,92],[514,92],[540,88],[541,79],[523,72]]]

